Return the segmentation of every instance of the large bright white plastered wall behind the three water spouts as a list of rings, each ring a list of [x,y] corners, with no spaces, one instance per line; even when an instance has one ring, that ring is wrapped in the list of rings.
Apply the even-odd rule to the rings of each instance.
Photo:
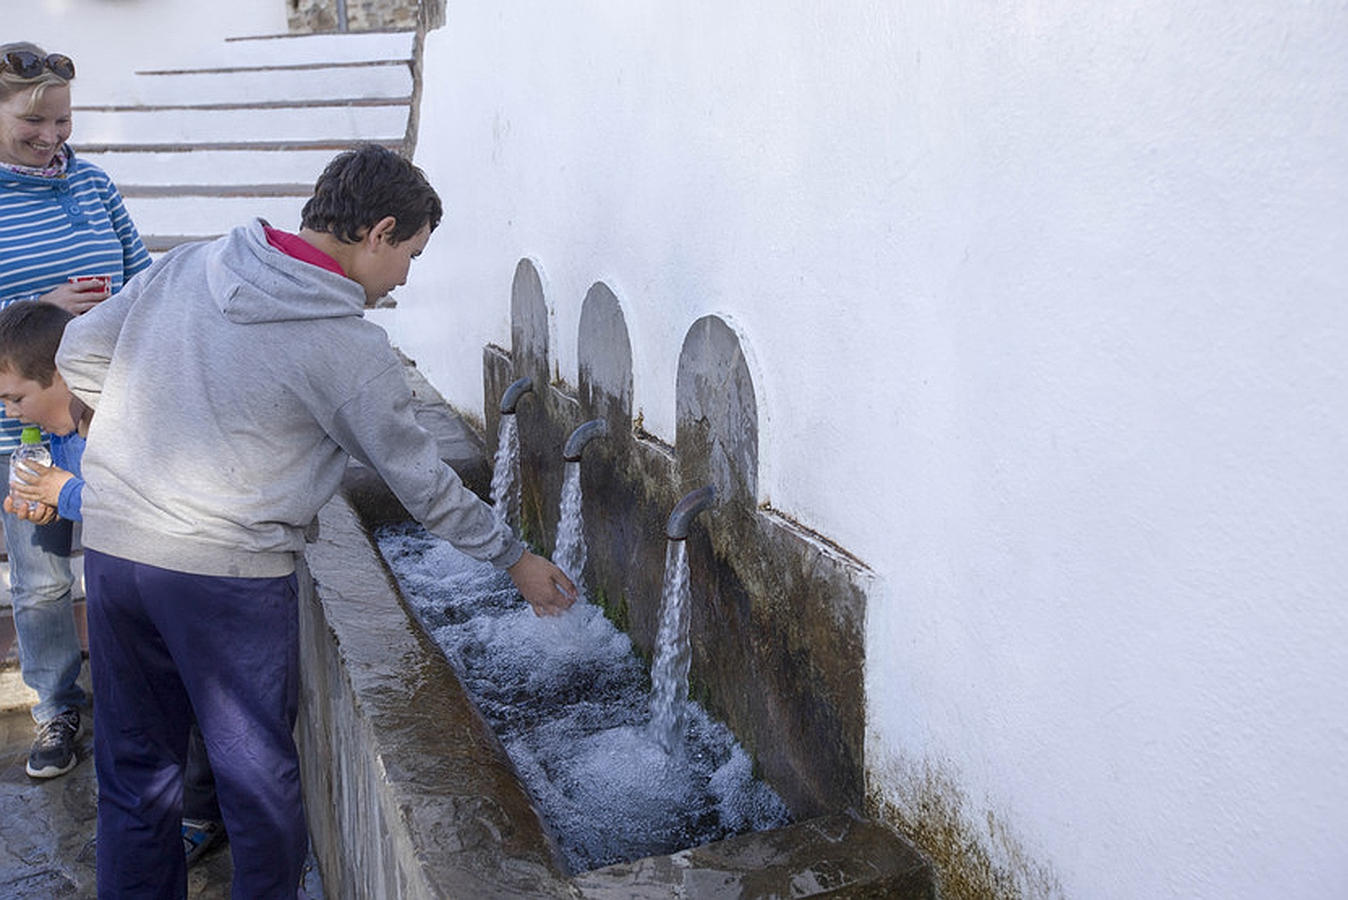
[[[613,288],[670,439],[732,318],[763,499],[878,574],[886,796],[945,773],[1072,897],[1348,896],[1348,3],[448,20],[388,325],[453,403],[523,256],[572,383]]]

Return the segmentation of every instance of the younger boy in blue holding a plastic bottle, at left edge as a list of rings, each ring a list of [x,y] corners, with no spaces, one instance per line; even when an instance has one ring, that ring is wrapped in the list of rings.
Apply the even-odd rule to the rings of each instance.
[[[19,481],[7,488],[19,497],[19,505],[7,493],[4,511],[39,525],[57,516],[66,521],[82,517],[80,462],[92,411],[70,393],[55,362],[71,318],[66,310],[39,300],[20,300],[0,310],[0,401],[5,415],[51,435],[51,465],[19,470]],[[224,837],[214,777],[195,726],[187,749],[183,812],[183,853],[191,865]]]

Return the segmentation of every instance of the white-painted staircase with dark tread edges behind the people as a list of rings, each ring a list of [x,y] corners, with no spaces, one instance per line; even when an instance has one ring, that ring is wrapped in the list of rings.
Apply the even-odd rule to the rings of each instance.
[[[112,175],[151,253],[253,216],[295,230],[337,152],[411,151],[418,67],[411,31],[232,38],[190,61],[166,49],[129,100],[75,105],[71,144]]]

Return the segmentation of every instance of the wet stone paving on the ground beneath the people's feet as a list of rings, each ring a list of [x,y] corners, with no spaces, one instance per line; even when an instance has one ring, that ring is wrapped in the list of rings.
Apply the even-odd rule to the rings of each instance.
[[[94,897],[97,787],[90,734],[86,715],[80,764],[67,775],[38,781],[23,768],[32,719],[22,710],[0,713],[0,896]],[[187,872],[187,896],[228,897],[232,873],[228,845],[212,849]],[[321,899],[313,858],[305,874],[309,896]]]

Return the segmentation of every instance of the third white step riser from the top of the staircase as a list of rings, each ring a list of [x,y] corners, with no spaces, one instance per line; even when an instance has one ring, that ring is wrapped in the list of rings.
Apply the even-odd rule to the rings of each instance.
[[[407,129],[406,105],[291,109],[81,112],[75,146],[185,144],[237,140],[386,140]]]

